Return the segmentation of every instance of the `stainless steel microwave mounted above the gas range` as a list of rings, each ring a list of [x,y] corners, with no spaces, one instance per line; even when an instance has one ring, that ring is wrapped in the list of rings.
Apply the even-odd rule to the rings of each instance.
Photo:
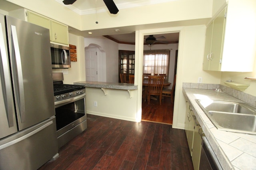
[[[69,47],[50,44],[52,56],[52,68],[70,68],[70,54]]]

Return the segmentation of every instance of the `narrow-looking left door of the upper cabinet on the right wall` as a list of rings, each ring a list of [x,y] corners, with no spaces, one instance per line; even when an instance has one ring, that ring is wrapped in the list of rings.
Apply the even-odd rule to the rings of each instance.
[[[209,70],[209,67],[210,67],[212,30],[213,30],[213,21],[210,23],[210,25],[206,29],[203,70]]]

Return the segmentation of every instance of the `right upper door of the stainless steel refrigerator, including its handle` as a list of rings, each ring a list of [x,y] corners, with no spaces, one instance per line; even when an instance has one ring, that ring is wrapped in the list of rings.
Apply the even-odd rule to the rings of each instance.
[[[18,129],[55,115],[49,29],[6,16]]]

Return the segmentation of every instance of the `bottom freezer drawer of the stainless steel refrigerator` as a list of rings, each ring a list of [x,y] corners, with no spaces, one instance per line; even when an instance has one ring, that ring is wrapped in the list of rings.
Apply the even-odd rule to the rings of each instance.
[[[36,170],[57,153],[53,117],[0,140],[0,170]]]

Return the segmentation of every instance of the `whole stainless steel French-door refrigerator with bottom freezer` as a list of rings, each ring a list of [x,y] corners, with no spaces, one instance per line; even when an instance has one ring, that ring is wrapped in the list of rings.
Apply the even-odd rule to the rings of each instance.
[[[49,30],[0,15],[0,169],[58,155]]]

